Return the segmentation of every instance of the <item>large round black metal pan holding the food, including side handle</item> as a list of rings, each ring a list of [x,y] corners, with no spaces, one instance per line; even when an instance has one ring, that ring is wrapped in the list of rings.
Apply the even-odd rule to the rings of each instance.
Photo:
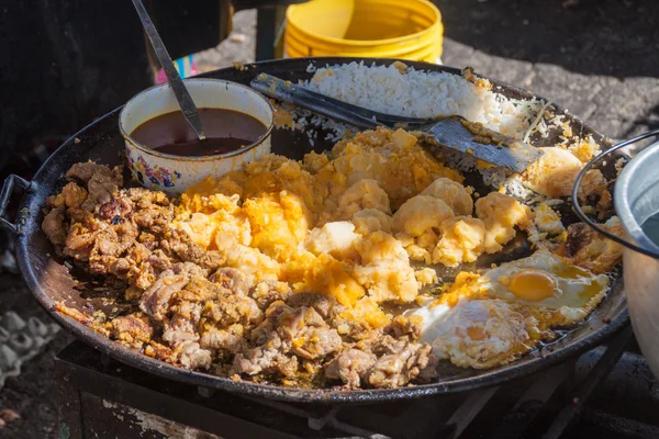
[[[340,64],[353,61],[346,58],[310,58],[287,59],[257,63],[246,66],[246,69],[222,69],[205,76],[222,78],[248,85],[259,72],[267,72],[279,78],[298,80],[309,78],[308,66],[326,64]],[[357,59],[359,61],[359,59]],[[388,65],[392,59],[366,59],[378,65]],[[435,66],[424,63],[407,63],[418,69],[446,71],[459,75],[459,70],[448,67]],[[532,94],[498,81],[496,91],[514,99],[529,99]],[[562,110],[559,109],[559,113]],[[622,279],[616,279],[613,288],[604,302],[592,313],[590,318],[568,331],[557,341],[544,346],[518,361],[505,367],[487,371],[458,369],[451,365],[442,365],[436,383],[393,390],[364,390],[364,391],[333,391],[333,390],[298,390],[283,389],[272,385],[254,384],[249,382],[235,382],[227,379],[209,375],[201,372],[175,368],[165,362],[150,359],[137,351],[127,349],[76,322],[75,319],[55,311],[56,302],[63,301],[68,307],[82,313],[91,313],[89,297],[76,284],[69,270],[63,261],[53,257],[53,247],[41,230],[43,218],[42,207],[44,198],[59,190],[64,183],[65,171],[78,161],[88,159],[101,164],[115,165],[121,161],[123,139],[118,130],[119,109],[107,114],[91,125],[87,126],[51,156],[38,170],[32,182],[26,182],[11,176],[4,182],[0,198],[0,216],[4,213],[7,200],[15,185],[25,189],[25,195],[20,206],[15,223],[3,219],[4,227],[16,234],[18,260],[25,282],[51,315],[76,337],[85,340],[96,349],[108,353],[119,361],[167,379],[178,380],[204,387],[221,389],[230,392],[259,395],[275,399],[319,403],[364,403],[375,401],[391,401],[412,398],[439,393],[460,392],[483,386],[494,385],[521,375],[525,375],[552,363],[565,360],[570,356],[603,342],[607,337],[618,331],[628,324],[623,293]],[[577,117],[567,114],[571,121],[574,133],[590,134],[602,146],[607,147],[610,142]],[[319,136],[322,138],[323,136]],[[554,139],[539,139],[536,145],[551,145]],[[293,158],[301,158],[311,149],[305,134],[295,134],[290,131],[276,131],[272,138],[273,150]],[[323,140],[315,142],[314,149],[330,147]],[[605,170],[612,177],[611,170]],[[87,306],[86,306],[87,305]],[[446,362],[445,362],[446,363]]]

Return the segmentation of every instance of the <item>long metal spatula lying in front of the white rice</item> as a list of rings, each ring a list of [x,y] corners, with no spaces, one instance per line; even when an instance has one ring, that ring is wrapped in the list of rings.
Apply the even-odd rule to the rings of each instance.
[[[306,90],[270,75],[258,75],[252,88],[264,94],[313,111],[330,119],[364,130],[378,126],[403,127],[421,132],[424,147],[437,155],[440,148],[459,150],[495,166],[523,172],[543,156],[543,150],[513,137],[484,128],[482,125],[453,115],[427,120],[378,113],[334,98]]]

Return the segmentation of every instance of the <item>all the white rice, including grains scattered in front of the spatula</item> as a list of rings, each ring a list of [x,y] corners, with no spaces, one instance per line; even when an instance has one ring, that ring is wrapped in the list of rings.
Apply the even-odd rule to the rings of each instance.
[[[400,66],[399,66],[400,68]],[[327,66],[308,71],[311,80],[300,85],[319,93],[339,99],[377,112],[412,117],[438,117],[458,114],[482,123],[495,132],[523,139],[539,133],[546,137],[550,130],[563,123],[551,111],[550,102],[539,99],[509,99],[487,87],[468,81],[462,76],[447,72],[421,71],[407,67],[367,66],[364,63]],[[552,108],[551,108],[552,109]],[[340,139],[348,126],[302,109],[290,109],[294,126],[304,130],[313,140],[319,130],[328,134],[325,139]],[[547,119],[547,120],[546,120]],[[448,166],[461,171],[477,168],[477,159],[451,149],[445,150]],[[499,188],[518,199],[528,200],[534,192],[526,189],[514,173],[502,168],[480,170],[485,184]]]

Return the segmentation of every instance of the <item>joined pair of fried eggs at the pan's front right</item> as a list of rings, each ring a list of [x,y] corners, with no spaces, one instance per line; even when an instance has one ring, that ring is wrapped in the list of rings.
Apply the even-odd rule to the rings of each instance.
[[[583,319],[607,288],[605,274],[540,249],[482,274],[461,272],[439,299],[406,315],[423,318],[421,340],[437,357],[485,369],[550,339],[550,329]]]

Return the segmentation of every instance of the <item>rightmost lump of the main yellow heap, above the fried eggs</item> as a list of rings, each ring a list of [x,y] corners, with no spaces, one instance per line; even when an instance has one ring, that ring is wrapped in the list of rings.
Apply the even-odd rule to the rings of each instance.
[[[568,153],[569,154],[569,153]],[[476,215],[485,224],[485,251],[495,254],[503,245],[515,237],[515,226],[526,228],[533,214],[527,205],[514,198],[490,192],[476,202]]]

